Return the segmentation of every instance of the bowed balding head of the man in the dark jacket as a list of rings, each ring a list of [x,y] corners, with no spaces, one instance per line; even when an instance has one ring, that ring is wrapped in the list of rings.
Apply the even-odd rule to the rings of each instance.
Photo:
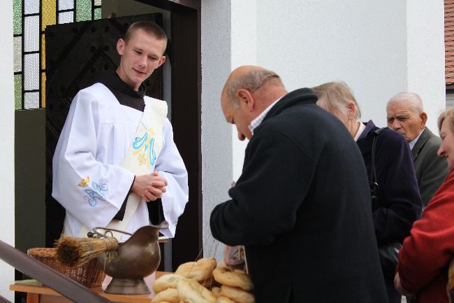
[[[221,94],[221,108],[227,122],[235,124],[238,139],[251,139],[248,128],[273,101],[287,94],[281,78],[260,66],[240,66],[230,73]]]

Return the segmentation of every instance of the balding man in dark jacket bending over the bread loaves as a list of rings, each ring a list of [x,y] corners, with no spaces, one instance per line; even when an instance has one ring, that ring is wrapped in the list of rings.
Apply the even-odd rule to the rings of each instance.
[[[256,302],[386,302],[363,159],[316,99],[258,66],[230,74],[221,108],[250,141],[213,237],[244,245]]]

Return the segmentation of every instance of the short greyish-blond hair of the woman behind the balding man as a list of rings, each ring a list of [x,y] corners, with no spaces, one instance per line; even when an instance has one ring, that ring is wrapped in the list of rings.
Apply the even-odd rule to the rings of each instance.
[[[318,97],[317,104],[321,108],[325,108],[331,113],[340,113],[342,115],[348,115],[347,105],[353,103],[355,106],[355,118],[360,120],[361,110],[353,97],[350,87],[344,82],[328,82],[316,87],[312,87],[312,90]]]

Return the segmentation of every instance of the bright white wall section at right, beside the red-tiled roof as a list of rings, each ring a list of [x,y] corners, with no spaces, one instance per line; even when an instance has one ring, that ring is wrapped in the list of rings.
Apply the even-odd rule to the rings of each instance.
[[[444,1],[407,1],[408,90],[423,99],[427,127],[438,134],[437,118],[446,107]]]

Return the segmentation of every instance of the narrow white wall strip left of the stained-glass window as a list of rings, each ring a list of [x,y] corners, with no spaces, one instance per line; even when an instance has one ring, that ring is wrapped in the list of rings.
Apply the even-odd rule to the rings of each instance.
[[[13,0],[0,1],[0,240],[14,246],[14,86],[13,86]],[[14,269],[0,260],[0,295],[14,301],[8,286]]]

